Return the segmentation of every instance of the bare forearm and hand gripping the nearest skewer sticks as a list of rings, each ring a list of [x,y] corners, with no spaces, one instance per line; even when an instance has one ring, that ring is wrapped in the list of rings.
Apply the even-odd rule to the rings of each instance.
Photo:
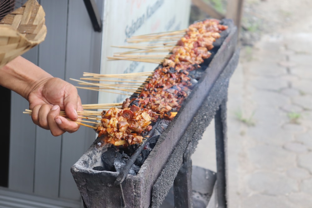
[[[28,100],[32,120],[38,126],[49,129],[54,136],[75,132],[79,125],[60,116],[77,120],[77,111],[83,110],[75,86],[55,78],[32,62],[18,56],[0,68],[0,85],[13,90]]]

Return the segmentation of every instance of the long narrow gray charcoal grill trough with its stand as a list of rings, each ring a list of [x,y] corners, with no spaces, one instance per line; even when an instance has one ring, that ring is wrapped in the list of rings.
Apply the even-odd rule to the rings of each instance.
[[[213,56],[201,65],[204,71],[200,80],[136,175],[128,174],[120,186],[115,186],[118,172],[93,169],[103,166],[101,156],[107,151],[100,138],[71,167],[85,207],[206,207],[212,203],[226,207],[227,88],[239,50],[237,28],[231,20],[223,21],[229,28],[214,43]],[[213,118],[216,173],[192,167],[190,159]]]

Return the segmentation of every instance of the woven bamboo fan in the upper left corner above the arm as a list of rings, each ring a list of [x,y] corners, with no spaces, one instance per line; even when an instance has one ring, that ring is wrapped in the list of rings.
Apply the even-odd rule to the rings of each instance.
[[[44,17],[39,3],[28,0],[0,21],[0,67],[45,39]]]

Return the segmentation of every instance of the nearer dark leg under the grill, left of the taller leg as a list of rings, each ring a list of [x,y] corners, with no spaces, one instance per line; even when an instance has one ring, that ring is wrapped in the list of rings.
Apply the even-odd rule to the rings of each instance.
[[[184,153],[184,161],[173,182],[174,207],[191,208],[192,192],[192,160],[189,152]]]

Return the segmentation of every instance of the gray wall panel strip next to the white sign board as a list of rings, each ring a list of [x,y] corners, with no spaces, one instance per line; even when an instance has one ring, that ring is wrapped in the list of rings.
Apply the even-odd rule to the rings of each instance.
[[[66,53],[66,80],[79,79],[83,72],[90,71],[90,53],[93,50],[92,33],[94,33],[90,18],[83,1],[69,1],[68,33]],[[92,60],[93,61],[93,60]],[[76,83],[73,83],[76,85]],[[83,104],[93,103],[89,98],[90,90],[78,89]],[[64,134],[62,141],[60,197],[79,200],[80,193],[70,172],[70,167],[86,151],[85,139],[94,137],[90,129],[80,127],[78,132]]]

